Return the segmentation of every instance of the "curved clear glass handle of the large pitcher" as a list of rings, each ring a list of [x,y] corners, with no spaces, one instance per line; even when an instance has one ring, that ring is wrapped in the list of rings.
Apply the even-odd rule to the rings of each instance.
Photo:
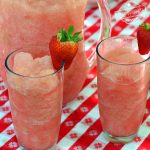
[[[97,40],[97,43],[99,43],[102,39],[108,38],[111,35],[111,15],[108,0],[96,1],[101,14],[100,36]],[[96,51],[94,50],[87,59],[91,70],[96,64]]]

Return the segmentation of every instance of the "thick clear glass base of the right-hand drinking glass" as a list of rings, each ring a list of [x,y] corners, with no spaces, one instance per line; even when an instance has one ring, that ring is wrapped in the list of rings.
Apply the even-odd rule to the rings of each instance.
[[[104,135],[110,142],[113,142],[113,143],[128,143],[128,142],[131,142],[136,137],[137,134],[120,137],[120,136],[113,136],[113,135],[108,134],[107,132],[104,132]]]

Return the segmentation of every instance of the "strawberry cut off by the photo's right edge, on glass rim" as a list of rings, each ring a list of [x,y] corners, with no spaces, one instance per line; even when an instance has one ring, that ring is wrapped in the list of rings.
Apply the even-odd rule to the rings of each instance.
[[[148,54],[150,51],[150,24],[143,23],[137,32],[137,40],[139,53],[141,55]]]

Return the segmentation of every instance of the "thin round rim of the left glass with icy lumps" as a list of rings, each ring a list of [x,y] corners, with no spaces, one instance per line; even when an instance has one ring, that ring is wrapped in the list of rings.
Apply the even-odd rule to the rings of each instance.
[[[33,47],[36,47],[36,46],[33,46]],[[27,47],[24,47],[24,48],[27,48]],[[17,51],[20,51],[20,50],[22,50],[22,49],[24,49],[24,48],[16,49],[16,50],[14,50],[13,52],[11,52],[11,53],[9,53],[9,54],[7,55],[7,57],[5,58],[4,65],[5,65],[5,69],[6,69],[8,72],[10,72],[10,73],[12,73],[12,74],[14,74],[14,75],[20,76],[20,77],[24,77],[24,78],[37,79],[37,78],[44,78],[44,77],[48,77],[48,76],[53,76],[53,75],[59,73],[59,72],[64,68],[65,62],[62,61],[61,66],[59,67],[59,69],[57,69],[56,71],[54,70],[53,73],[46,74],[46,75],[41,75],[41,76],[35,76],[35,77],[34,77],[34,76],[27,76],[27,75],[23,75],[23,74],[19,74],[19,73],[15,72],[15,71],[13,71],[13,70],[9,67],[8,61],[9,61],[10,57],[11,57],[13,54],[15,54]]]

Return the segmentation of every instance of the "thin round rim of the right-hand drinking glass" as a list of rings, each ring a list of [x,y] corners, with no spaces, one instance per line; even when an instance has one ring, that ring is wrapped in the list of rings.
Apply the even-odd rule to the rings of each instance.
[[[101,40],[98,45],[96,46],[96,53],[97,53],[97,56],[99,58],[101,58],[102,60],[108,62],[108,63],[111,63],[111,64],[114,64],[114,65],[120,65],[120,66],[133,66],[133,65],[139,65],[139,64],[142,64],[144,62],[147,62],[148,60],[150,60],[150,56],[148,56],[148,58],[140,61],[140,62],[136,62],[136,63],[129,63],[129,64],[126,64],[126,63],[116,63],[116,62],[113,62],[113,61],[110,61],[109,59],[106,59],[104,58],[100,53],[99,53],[99,46],[106,40],[108,39],[117,39],[117,38],[123,38],[123,37],[128,37],[128,38],[132,38],[132,39],[135,39],[136,37],[135,36],[130,36],[130,35],[117,35],[117,36],[112,36],[112,37],[108,37],[108,38],[105,38],[103,40]]]

